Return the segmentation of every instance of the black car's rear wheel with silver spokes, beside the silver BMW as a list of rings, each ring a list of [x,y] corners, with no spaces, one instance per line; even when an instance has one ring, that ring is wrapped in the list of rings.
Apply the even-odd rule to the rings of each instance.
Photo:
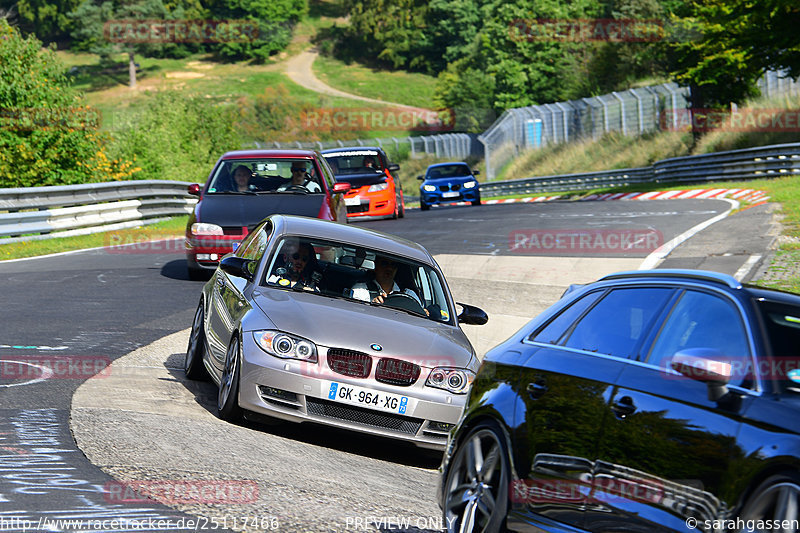
[[[508,446],[500,428],[484,423],[470,431],[453,454],[447,473],[447,531],[505,531],[510,477]]]

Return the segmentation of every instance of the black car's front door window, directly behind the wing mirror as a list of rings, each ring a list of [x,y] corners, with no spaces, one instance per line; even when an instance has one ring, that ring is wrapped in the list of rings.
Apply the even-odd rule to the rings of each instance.
[[[744,324],[732,302],[706,292],[686,291],[661,328],[647,362],[666,364],[677,352],[689,348],[711,348],[731,360],[749,362]],[[735,374],[734,385],[744,378],[742,372]]]

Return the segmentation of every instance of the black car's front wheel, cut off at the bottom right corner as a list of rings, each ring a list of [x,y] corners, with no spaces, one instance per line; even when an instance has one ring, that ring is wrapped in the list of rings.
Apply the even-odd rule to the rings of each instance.
[[[787,472],[765,479],[750,495],[739,517],[752,524],[798,520],[799,515],[800,476]]]

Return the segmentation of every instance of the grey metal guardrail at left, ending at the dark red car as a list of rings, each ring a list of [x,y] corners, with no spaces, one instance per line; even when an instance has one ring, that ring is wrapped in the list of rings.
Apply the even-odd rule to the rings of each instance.
[[[0,189],[0,244],[85,235],[192,212],[188,182],[118,181]]]

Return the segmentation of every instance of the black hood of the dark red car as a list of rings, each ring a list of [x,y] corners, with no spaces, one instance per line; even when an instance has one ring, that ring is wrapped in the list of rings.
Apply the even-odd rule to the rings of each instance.
[[[324,194],[206,194],[197,207],[199,222],[252,227],[277,213],[316,218]]]

